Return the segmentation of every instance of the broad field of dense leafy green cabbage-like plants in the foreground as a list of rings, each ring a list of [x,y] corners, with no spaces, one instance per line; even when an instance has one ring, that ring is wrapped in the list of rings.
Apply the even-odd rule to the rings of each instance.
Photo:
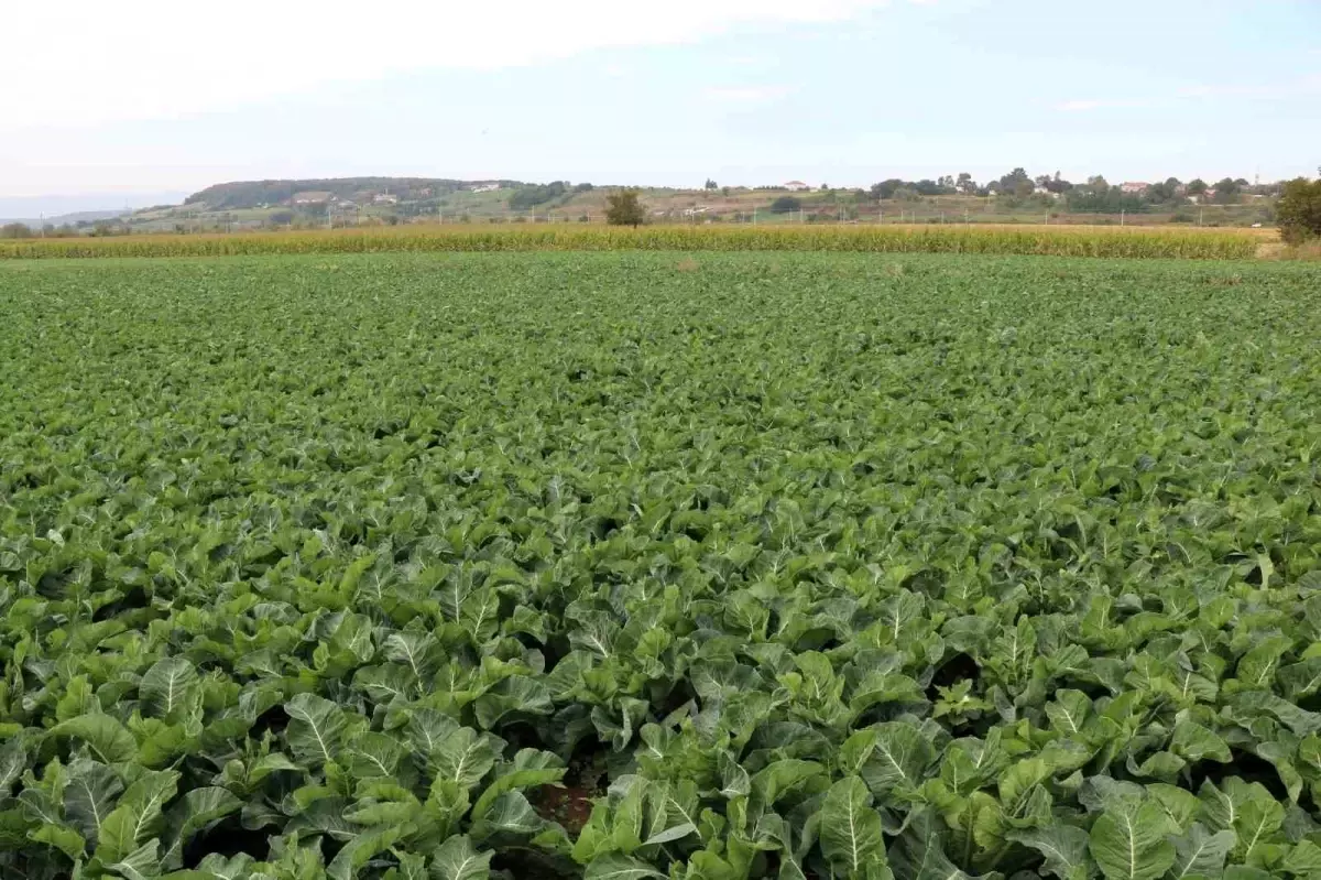
[[[5,262],[0,875],[1321,877],[1318,340],[1305,263]]]

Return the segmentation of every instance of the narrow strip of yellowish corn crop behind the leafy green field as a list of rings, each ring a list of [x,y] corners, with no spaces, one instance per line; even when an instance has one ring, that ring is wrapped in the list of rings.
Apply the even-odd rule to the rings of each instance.
[[[0,260],[399,251],[859,251],[1246,259],[1275,230],[1026,225],[454,225],[0,242]]]

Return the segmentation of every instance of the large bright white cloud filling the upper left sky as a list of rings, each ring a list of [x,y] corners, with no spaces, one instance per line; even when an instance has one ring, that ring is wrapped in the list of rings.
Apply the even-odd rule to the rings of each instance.
[[[917,0],[909,0],[915,3]],[[168,119],[417,70],[499,70],[889,0],[63,0],[4,13],[0,131]]]

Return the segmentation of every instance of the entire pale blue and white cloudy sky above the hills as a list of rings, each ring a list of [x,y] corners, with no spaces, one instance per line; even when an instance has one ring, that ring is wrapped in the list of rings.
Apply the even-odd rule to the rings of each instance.
[[[0,215],[271,177],[1317,174],[1318,34],[1321,0],[24,3]]]

